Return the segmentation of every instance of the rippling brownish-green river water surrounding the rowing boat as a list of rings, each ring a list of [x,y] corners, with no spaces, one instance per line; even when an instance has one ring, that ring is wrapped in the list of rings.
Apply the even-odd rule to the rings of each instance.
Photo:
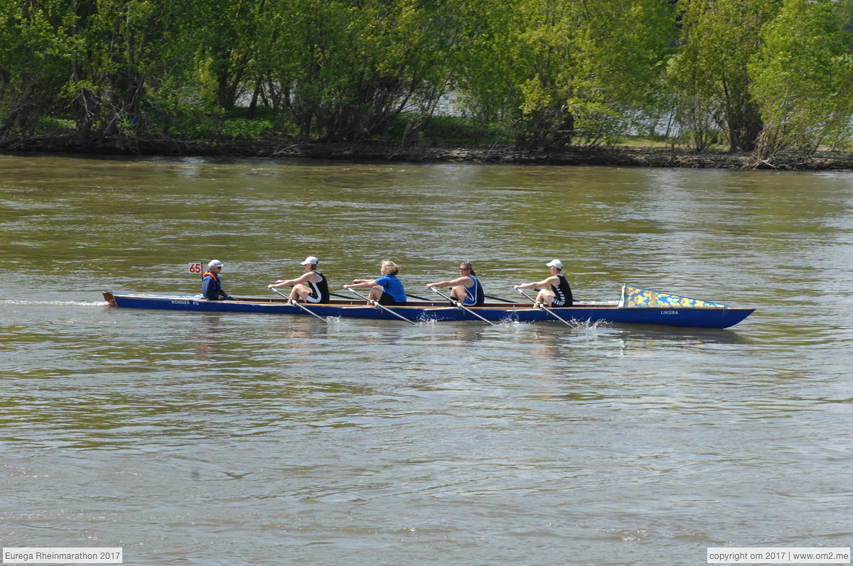
[[[853,546],[853,173],[0,156],[0,544],[128,564],[699,564]],[[107,308],[471,261],[726,331]],[[342,292],[342,291],[341,291]]]

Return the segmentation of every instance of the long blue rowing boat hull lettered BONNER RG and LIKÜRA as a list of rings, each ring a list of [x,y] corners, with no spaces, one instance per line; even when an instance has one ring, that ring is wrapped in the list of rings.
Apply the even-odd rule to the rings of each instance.
[[[197,295],[129,295],[104,292],[104,299],[112,306],[123,309],[186,310],[209,313],[252,313],[261,315],[305,315],[304,309],[287,303],[284,299],[262,297],[237,297],[234,301],[209,301]],[[332,301],[305,305],[312,313],[322,317],[399,321],[391,313],[363,301]],[[478,321],[463,309],[447,303],[415,302],[406,306],[390,307],[409,321]],[[688,326],[693,328],[728,328],[743,321],[755,309],[686,309],[686,308],[620,308],[608,304],[578,304],[568,308],[551,309],[566,321],[606,321],[624,324],[653,324]],[[478,315],[493,322],[554,322],[557,319],[543,309],[531,308],[525,303],[487,303],[473,309]]]

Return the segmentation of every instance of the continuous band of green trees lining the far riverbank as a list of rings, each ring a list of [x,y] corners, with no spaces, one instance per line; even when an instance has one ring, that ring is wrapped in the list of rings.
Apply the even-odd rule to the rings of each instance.
[[[850,137],[850,0],[0,0],[0,136],[419,139],[439,105],[526,147],[670,114],[761,159]]]

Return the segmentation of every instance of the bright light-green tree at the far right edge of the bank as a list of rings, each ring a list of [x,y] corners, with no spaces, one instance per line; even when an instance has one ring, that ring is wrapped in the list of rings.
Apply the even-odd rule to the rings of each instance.
[[[761,32],[749,72],[763,119],[756,158],[769,163],[789,150],[808,156],[821,144],[849,139],[853,55],[848,3],[785,0]]]

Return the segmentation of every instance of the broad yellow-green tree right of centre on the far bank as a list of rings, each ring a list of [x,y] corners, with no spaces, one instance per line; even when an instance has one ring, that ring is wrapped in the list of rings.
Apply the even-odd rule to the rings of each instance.
[[[663,0],[514,0],[479,22],[461,87],[519,143],[598,143],[653,100],[674,35]]]

